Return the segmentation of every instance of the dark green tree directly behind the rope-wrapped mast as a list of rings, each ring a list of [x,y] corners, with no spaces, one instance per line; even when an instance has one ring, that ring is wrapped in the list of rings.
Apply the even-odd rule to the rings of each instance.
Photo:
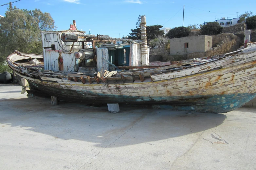
[[[162,28],[162,25],[149,25],[147,26],[147,41],[149,43],[150,39],[154,39],[155,36],[158,35],[164,35],[163,31],[160,31],[160,29]],[[139,34],[139,29],[140,28],[136,28],[136,29],[131,29],[132,33],[129,33],[130,35],[128,35],[129,39],[141,39],[141,35]]]

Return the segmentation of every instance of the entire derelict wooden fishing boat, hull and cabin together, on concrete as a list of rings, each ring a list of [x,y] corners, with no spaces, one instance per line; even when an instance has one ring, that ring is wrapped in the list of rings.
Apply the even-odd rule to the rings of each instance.
[[[54,44],[61,50],[44,50],[43,56],[21,54],[18,51],[9,55],[9,67],[23,81],[27,80],[28,85],[25,83],[23,86],[29,86],[29,92],[91,104],[149,104],[210,113],[229,112],[256,96],[256,43],[249,43],[247,48],[231,53],[201,58],[202,61],[179,61],[168,66],[138,66],[133,65],[133,62],[143,60],[143,57],[136,58],[142,51],[139,43],[132,42],[129,45],[129,65],[117,66],[117,70],[111,71],[113,67],[109,67],[109,63],[114,64],[111,62],[113,58],[110,53],[113,51],[110,49],[118,53],[117,49],[124,51],[127,46],[114,44],[97,48],[97,67],[95,56],[89,62],[91,65],[86,65],[74,59],[74,51],[68,51],[75,48],[74,41],[70,49],[65,49],[64,45],[58,46],[58,43],[63,43],[60,41],[64,38],[62,35],[68,33],[42,33],[43,38],[45,34],[57,35],[55,39],[58,42]],[[77,42],[101,41],[99,38],[88,40],[86,36],[80,34]],[[49,46],[49,42],[44,43],[44,47]],[[79,46],[77,44],[78,49]],[[75,61],[71,62],[70,55]],[[70,62],[64,63],[65,60]],[[35,64],[38,61],[40,64]],[[57,66],[54,66],[55,61]],[[72,64],[72,70],[68,68],[69,64]]]

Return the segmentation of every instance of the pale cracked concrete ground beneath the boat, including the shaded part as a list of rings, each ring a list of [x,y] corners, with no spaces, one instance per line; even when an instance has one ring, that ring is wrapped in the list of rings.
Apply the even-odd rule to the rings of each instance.
[[[225,114],[27,98],[0,84],[0,169],[256,169],[256,110]]]

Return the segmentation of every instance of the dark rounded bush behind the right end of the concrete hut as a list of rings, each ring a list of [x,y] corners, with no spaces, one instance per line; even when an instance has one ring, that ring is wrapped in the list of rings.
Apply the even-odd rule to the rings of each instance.
[[[218,22],[207,22],[206,25],[200,27],[201,35],[216,35],[220,34],[223,27]]]

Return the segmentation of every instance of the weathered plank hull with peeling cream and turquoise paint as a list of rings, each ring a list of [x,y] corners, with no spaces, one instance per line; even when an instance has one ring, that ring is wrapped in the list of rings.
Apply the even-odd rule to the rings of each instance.
[[[180,71],[152,75],[144,82],[75,82],[59,78],[26,78],[32,91],[85,103],[158,105],[160,108],[226,113],[256,96],[256,47]],[[152,81],[153,80],[153,81]]]

